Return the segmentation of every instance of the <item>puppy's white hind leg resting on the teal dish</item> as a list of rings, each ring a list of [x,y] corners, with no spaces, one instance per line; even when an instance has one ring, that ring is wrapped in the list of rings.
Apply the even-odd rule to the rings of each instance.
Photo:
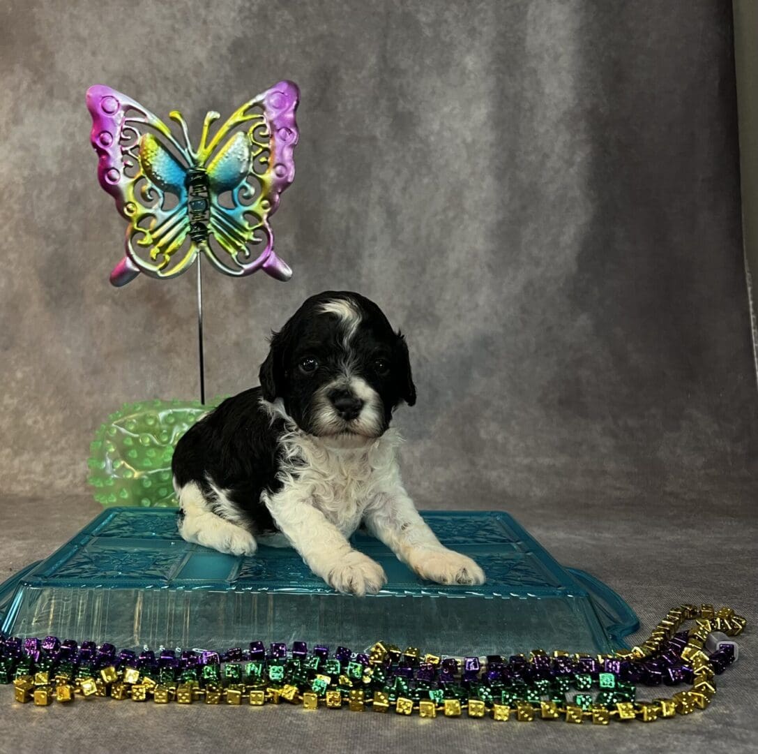
[[[196,542],[228,555],[252,555],[258,549],[255,537],[247,529],[212,511],[214,501],[205,498],[197,482],[177,489],[177,497],[183,513],[179,533],[186,542]]]

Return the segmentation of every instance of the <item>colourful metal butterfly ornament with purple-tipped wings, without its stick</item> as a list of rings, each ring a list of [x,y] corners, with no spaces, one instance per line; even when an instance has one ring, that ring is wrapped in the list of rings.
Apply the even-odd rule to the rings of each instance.
[[[280,81],[240,107],[209,136],[218,112],[208,112],[198,149],[174,110],[183,143],[143,105],[109,86],[90,86],[90,139],[100,185],[129,223],[126,256],[111,272],[125,285],[144,272],[174,278],[199,251],[226,275],[264,269],[278,280],[292,270],[274,253],[268,218],[295,178],[299,91]],[[255,247],[262,247],[254,253]]]

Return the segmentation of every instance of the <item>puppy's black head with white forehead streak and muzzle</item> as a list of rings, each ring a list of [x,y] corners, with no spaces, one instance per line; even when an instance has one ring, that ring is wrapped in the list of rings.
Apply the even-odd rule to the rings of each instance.
[[[377,438],[400,401],[416,401],[405,338],[375,303],[346,291],[302,304],[271,339],[260,379],[266,401],[281,399],[320,437]]]

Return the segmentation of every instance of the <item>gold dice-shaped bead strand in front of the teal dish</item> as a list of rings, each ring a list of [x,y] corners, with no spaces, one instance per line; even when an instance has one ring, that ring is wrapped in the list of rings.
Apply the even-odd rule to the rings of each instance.
[[[390,656],[399,649],[377,642],[371,648],[368,665],[361,671],[359,678],[349,677],[341,673],[337,680],[326,675],[317,675],[322,680],[322,686],[316,690],[301,690],[296,683],[277,685],[268,682],[260,683],[228,683],[222,686],[220,682],[201,684],[199,680],[186,680],[175,684],[159,683],[148,674],[141,674],[137,668],[122,668],[109,665],[99,671],[99,677],[71,678],[65,673],[50,677],[49,671],[39,671],[36,674],[23,674],[14,680],[14,700],[16,702],[34,702],[35,705],[45,706],[58,702],[72,702],[77,696],[97,697],[110,696],[111,699],[131,699],[143,702],[152,699],[156,704],[166,704],[175,701],[179,704],[205,702],[205,704],[241,705],[243,700],[252,706],[279,704],[283,699],[292,705],[302,704],[306,710],[315,710],[323,705],[327,708],[342,708],[346,706],[353,712],[363,712],[368,708],[374,712],[387,712],[392,708],[399,715],[412,715],[414,712],[422,718],[435,718],[440,713],[445,717],[460,717],[463,712],[469,718],[484,718],[486,715],[495,721],[507,721],[512,718],[529,722],[539,717],[543,720],[563,719],[568,723],[581,723],[585,720],[594,724],[607,725],[612,719],[619,721],[641,720],[652,722],[659,718],[673,718],[675,715],[689,715],[696,709],[706,708],[716,693],[715,671],[709,655],[703,651],[706,640],[712,632],[719,631],[726,636],[738,636],[747,624],[744,617],[735,614],[731,608],[716,610],[713,605],[680,605],[670,610],[666,617],[650,633],[650,638],[639,646],[631,649],[619,649],[609,655],[597,655],[601,663],[607,659],[619,661],[642,661],[656,657],[662,646],[669,642],[682,625],[694,620],[695,626],[688,631],[686,646],[681,651],[681,659],[688,662],[692,668],[693,680],[691,686],[673,694],[670,698],[659,697],[650,702],[615,702],[613,705],[602,704],[559,704],[553,701],[529,702],[517,700],[506,704],[496,701],[490,703],[482,699],[420,699],[414,701],[407,696],[397,695],[390,699],[390,694],[384,691],[374,691],[368,696],[361,683],[371,683],[371,676],[376,668],[381,667]],[[418,650],[409,648],[406,655],[420,658]],[[545,652],[535,650],[531,653],[531,661],[537,656],[545,656]],[[580,655],[568,652],[553,652],[553,658],[568,657],[577,660]],[[423,661],[429,666],[437,667],[440,657],[424,655]],[[302,684],[301,684],[302,685]]]

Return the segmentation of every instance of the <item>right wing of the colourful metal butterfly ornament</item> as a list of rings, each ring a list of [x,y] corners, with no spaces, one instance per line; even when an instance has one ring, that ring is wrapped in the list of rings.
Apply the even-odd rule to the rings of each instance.
[[[235,127],[245,124],[247,129],[227,140],[206,168],[211,203],[208,230],[220,249],[208,243],[203,250],[227,275],[251,275],[263,269],[282,281],[292,276],[287,262],[274,253],[269,218],[295,178],[298,98],[296,84],[280,81],[237,110],[207,146],[204,133],[201,164]]]

